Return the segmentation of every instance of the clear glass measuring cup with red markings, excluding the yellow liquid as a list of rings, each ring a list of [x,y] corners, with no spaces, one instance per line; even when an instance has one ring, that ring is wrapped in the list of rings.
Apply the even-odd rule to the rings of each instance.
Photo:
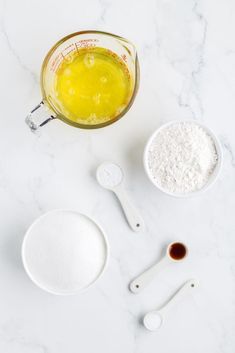
[[[71,120],[61,110],[60,101],[54,94],[56,73],[63,61],[71,62],[74,53],[81,49],[103,48],[108,55],[118,58],[132,80],[129,101],[123,109],[101,123],[84,123]],[[51,120],[60,119],[64,123],[83,129],[101,128],[119,120],[131,107],[139,86],[139,64],[136,49],[128,40],[114,34],[100,31],[82,31],[70,34],[58,41],[46,55],[41,69],[42,101],[26,117],[32,131]],[[82,118],[82,117],[80,117]]]

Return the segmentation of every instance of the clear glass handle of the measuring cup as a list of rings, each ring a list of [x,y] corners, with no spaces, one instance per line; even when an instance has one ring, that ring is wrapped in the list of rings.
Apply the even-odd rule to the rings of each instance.
[[[25,122],[30,130],[35,132],[38,128],[46,125],[49,121],[55,119],[53,112],[42,101],[27,115]]]

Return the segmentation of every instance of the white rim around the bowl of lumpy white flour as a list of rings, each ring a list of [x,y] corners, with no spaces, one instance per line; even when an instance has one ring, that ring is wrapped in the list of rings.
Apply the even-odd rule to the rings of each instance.
[[[206,134],[208,134],[215,146],[215,150],[216,150],[216,154],[217,154],[217,162],[215,165],[215,168],[213,170],[213,172],[211,173],[210,177],[208,178],[208,180],[206,181],[206,183],[197,190],[191,191],[191,192],[184,192],[184,193],[179,193],[179,192],[171,192],[169,191],[167,188],[163,187],[162,185],[160,185],[160,183],[157,182],[155,176],[153,175],[153,172],[151,171],[150,165],[149,165],[149,153],[150,153],[150,149],[151,146],[153,144],[154,141],[156,141],[158,134],[162,131],[164,131],[165,129],[168,129],[169,127],[173,126],[174,124],[181,124],[181,123],[191,123],[191,124],[195,124],[196,126],[202,128]],[[206,190],[208,190],[217,180],[218,175],[221,171],[221,166],[222,166],[222,159],[223,159],[223,155],[222,155],[222,148],[221,148],[221,144],[218,140],[218,138],[216,137],[216,135],[205,125],[198,123],[194,120],[173,120],[170,121],[166,124],[161,125],[157,130],[154,131],[154,133],[150,136],[150,138],[147,141],[147,144],[145,146],[145,150],[144,150],[144,169],[145,172],[149,178],[149,180],[163,193],[173,196],[173,197],[178,197],[178,198],[185,198],[185,197],[191,197],[191,196],[196,196],[199,195],[201,193],[204,193]]]

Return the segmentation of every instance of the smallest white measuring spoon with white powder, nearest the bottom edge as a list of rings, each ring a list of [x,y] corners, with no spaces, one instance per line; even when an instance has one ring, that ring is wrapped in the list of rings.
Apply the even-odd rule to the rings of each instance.
[[[195,279],[191,279],[186,282],[174,296],[160,309],[148,312],[143,319],[143,324],[149,331],[157,331],[165,319],[168,310],[176,304],[176,302],[187,293],[190,293],[195,287],[198,286],[198,282]]]

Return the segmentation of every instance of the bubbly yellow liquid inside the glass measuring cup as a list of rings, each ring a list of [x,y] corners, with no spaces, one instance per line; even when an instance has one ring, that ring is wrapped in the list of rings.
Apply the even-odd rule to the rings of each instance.
[[[114,119],[127,106],[132,82],[115,55],[104,48],[86,48],[67,57],[57,70],[55,92],[61,113],[81,124]]]

